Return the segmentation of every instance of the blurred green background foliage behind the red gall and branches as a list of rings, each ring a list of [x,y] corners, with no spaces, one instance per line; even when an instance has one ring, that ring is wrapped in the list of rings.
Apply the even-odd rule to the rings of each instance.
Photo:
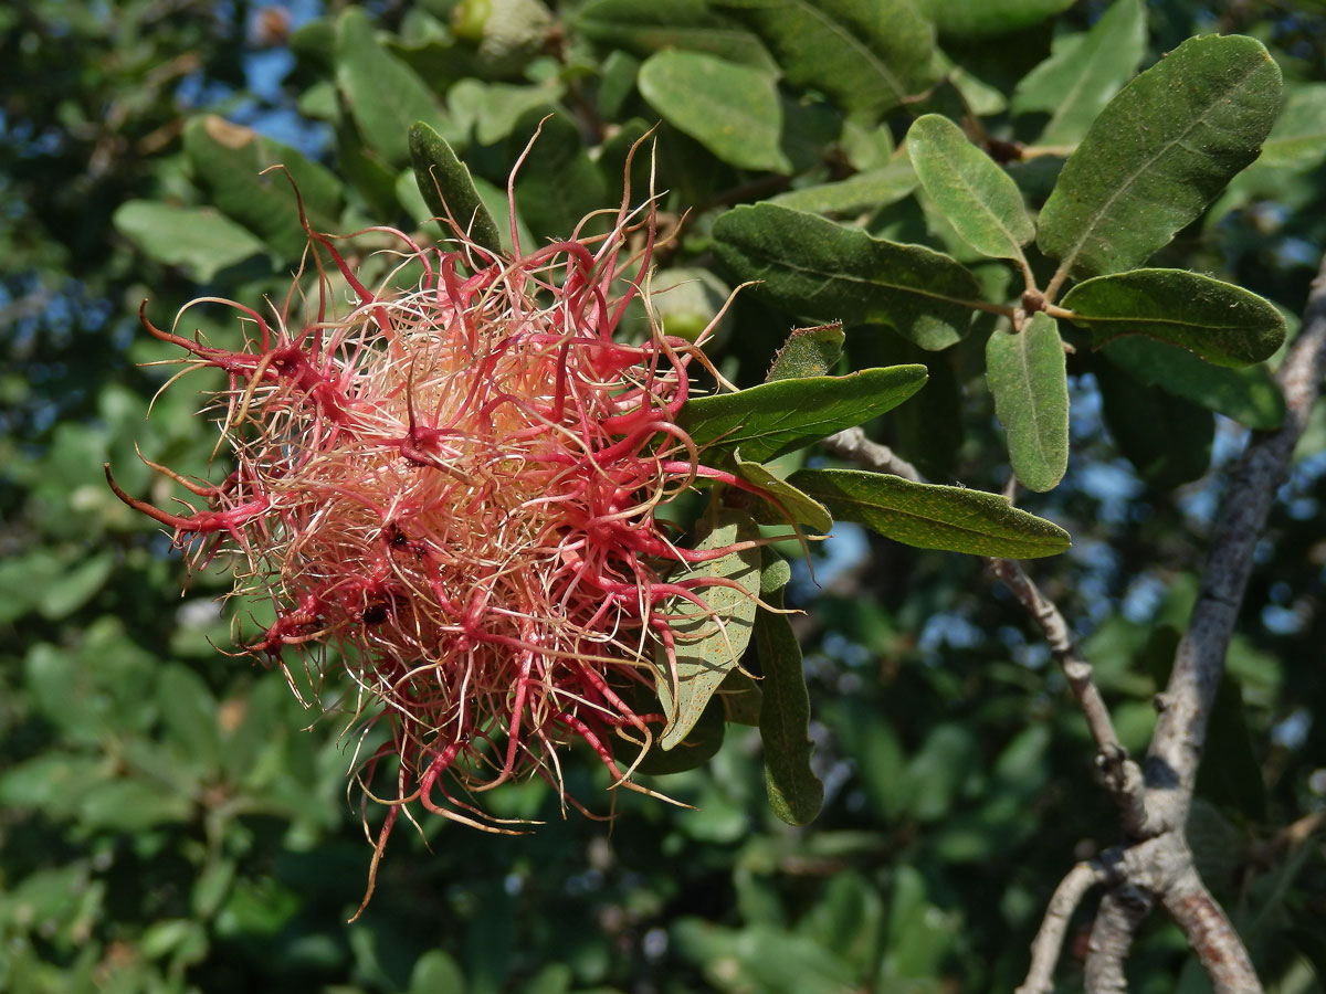
[[[302,235],[284,179],[260,167],[284,163],[320,225],[436,236],[410,167],[422,119],[461,152],[509,241],[507,176],[553,113],[514,182],[516,229],[533,244],[613,203],[626,150],[662,118],[662,211],[693,212],[664,269],[712,268],[713,220],[770,196],[968,260],[912,195],[895,140],[926,111],[1005,140],[1078,140],[1099,106],[1057,107],[1046,86],[1093,46],[1110,57],[1078,64],[1122,85],[1140,19],[1143,65],[1189,34],[1241,32],[1288,83],[1266,154],[1155,264],[1219,273],[1292,314],[1326,239],[1326,21],[1307,9],[1158,0],[1128,20],[1101,19],[1099,3],[888,0],[896,33],[865,36],[895,60],[882,76],[793,4],[582,0],[544,21],[529,3],[493,0],[508,21],[477,30],[484,5],[468,0],[459,20],[451,0],[0,9],[0,990],[1008,990],[1059,876],[1115,842],[1085,724],[1017,604],[977,559],[843,529],[817,554],[821,586],[798,571],[788,591],[808,608],[794,627],[826,786],[817,820],[772,815],[753,730],[731,730],[705,769],[655,781],[696,810],[609,794],[586,757],[569,786],[614,823],[564,818],[538,782],[499,791],[499,815],[546,824],[516,838],[398,830],[373,904],[346,924],[370,855],[345,793],[358,744],[280,673],[219,651],[229,618],[252,631],[260,606],[223,614],[215,570],[182,599],[179,558],[101,470],[113,461],[127,490],[162,505],[134,439],[206,470],[213,437],[190,386],[145,420],[170,368],[139,364],[167,354],[137,310],[150,297],[162,322],[199,294],[284,292]],[[857,7],[825,4],[849,25]],[[1010,175],[1040,204],[1059,162]],[[973,269],[1004,285],[1000,266]],[[206,309],[187,319],[227,334]],[[980,342],[989,326],[977,327]],[[740,298],[724,374],[761,382],[788,330]],[[997,490],[1004,441],[967,345],[846,335],[854,368],[931,368],[871,433],[932,478]],[[1029,506],[1074,535],[1038,577],[1079,620],[1140,749],[1219,496],[1211,459],[1225,464],[1238,432],[1191,392],[1124,375],[1130,362],[1069,357],[1073,461]],[[1163,419],[1168,444],[1147,419]],[[1323,451],[1318,411],[1231,651],[1191,830],[1284,994],[1326,978],[1313,974],[1326,970],[1321,835],[1286,831],[1326,808]],[[1203,990],[1185,960],[1183,938],[1152,922],[1136,990]],[[1077,962],[1070,949],[1070,985]]]

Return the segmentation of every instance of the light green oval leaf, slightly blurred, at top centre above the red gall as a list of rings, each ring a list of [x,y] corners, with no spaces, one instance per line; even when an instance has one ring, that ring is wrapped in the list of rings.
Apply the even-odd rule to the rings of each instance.
[[[743,170],[792,172],[773,73],[703,52],[659,52],[638,85],[664,121]]]

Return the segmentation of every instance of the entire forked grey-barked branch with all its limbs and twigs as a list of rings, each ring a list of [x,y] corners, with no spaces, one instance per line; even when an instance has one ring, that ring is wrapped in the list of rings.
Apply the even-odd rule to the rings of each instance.
[[[1274,432],[1254,432],[1231,474],[1211,537],[1201,587],[1187,632],[1179,643],[1166,690],[1158,696],[1160,716],[1139,783],[1118,744],[1109,712],[1091,680],[1091,668],[1069,635],[1058,608],[1016,563],[996,561],[994,571],[1041,627],[1052,652],[1086,714],[1106,782],[1120,799],[1128,842],[1094,864],[1074,867],[1059,883],[1032,945],[1032,966],[1018,994],[1046,994],[1053,987],[1073,911],[1086,892],[1107,876],[1107,891],[1091,928],[1085,981],[1089,994],[1126,994],[1124,964],[1132,940],[1156,901],[1164,905],[1196,952],[1215,994],[1261,994],[1248,950],[1220,904],[1197,875],[1185,840],[1188,810],[1207,740],[1225,653],[1242,604],[1253,553],[1266,525],[1276,492],[1289,472],[1326,378],[1326,260],[1322,261],[1303,313],[1303,327],[1280,367],[1286,416]],[[834,452],[888,473],[920,474],[859,428],[827,440]]]

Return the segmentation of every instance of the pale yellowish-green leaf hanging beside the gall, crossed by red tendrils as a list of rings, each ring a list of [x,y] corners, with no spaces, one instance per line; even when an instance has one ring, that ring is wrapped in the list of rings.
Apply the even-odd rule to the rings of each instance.
[[[713,530],[696,543],[708,551],[737,542],[752,542],[760,537],[758,526],[751,516],[724,510],[717,516]],[[760,550],[744,549],[720,559],[697,563],[690,570],[674,574],[672,579],[697,578],[727,579],[737,587],[711,586],[696,591],[708,604],[708,611],[684,598],[672,598],[667,611],[688,615],[672,623],[676,637],[676,672],[668,665],[662,648],[656,657],[659,702],[667,716],[667,725],[659,737],[659,747],[674,749],[680,744],[709,704],[723,679],[736,669],[741,653],[751,641],[754,624],[756,598],[760,594]]]

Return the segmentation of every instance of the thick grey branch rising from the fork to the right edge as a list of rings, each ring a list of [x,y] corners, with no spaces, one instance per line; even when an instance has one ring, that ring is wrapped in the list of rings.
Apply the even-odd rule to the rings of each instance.
[[[1167,828],[1181,831],[1207,740],[1225,652],[1238,619],[1253,553],[1285,480],[1313,404],[1326,376],[1326,260],[1313,281],[1303,330],[1277,379],[1285,394],[1284,425],[1253,433],[1233,472],[1211,537],[1201,588],[1174,672],[1159,698],[1160,717],[1147,753],[1147,808]]]

